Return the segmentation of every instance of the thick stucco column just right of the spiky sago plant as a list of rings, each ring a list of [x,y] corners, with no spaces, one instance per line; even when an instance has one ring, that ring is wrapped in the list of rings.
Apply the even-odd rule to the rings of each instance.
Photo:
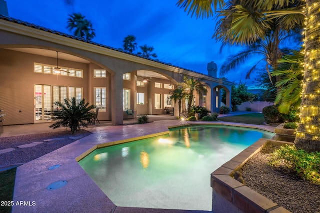
[[[111,75],[111,123],[123,124],[123,75],[113,73]]]

